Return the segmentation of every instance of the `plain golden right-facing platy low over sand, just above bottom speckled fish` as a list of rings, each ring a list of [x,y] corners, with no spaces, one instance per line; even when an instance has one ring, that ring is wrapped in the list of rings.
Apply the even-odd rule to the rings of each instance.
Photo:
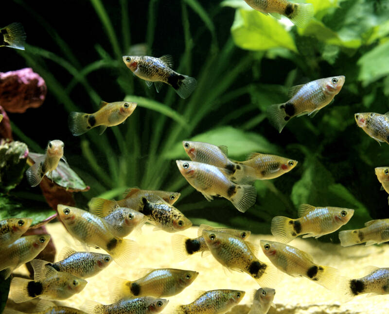
[[[119,279],[113,284],[113,299],[127,297],[171,297],[179,294],[196,278],[198,272],[173,268],[149,271],[136,281]]]

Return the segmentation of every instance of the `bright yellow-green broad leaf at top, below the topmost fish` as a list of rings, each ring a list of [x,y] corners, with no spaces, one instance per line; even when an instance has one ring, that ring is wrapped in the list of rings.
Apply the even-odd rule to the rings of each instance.
[[[283,47],[297,52],[293,37],[274,17],[254,10],[237,9],[231,27],[235,44],[247,50]]]

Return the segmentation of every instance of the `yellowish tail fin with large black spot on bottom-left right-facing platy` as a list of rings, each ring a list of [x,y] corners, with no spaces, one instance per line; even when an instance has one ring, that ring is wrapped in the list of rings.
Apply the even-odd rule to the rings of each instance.
[[[10,286],[14,302],[21,303],[39,297],[42,294],[42,284],[33,280],[14,277]]]

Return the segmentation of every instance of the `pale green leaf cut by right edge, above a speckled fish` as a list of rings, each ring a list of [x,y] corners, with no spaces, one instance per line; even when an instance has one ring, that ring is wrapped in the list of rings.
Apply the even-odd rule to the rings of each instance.
[[[360,66],[358,80],[363,86],[389,74],[389,42],[378,45],[365,53],[357,62]]]

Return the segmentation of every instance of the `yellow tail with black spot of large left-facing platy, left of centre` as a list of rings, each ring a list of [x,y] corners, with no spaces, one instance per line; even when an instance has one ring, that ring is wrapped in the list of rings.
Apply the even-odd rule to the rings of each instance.
[[[109,241],[107,250],[117,264],[125,267],[138,257],[139,245],[133,240],[115,237]]]

